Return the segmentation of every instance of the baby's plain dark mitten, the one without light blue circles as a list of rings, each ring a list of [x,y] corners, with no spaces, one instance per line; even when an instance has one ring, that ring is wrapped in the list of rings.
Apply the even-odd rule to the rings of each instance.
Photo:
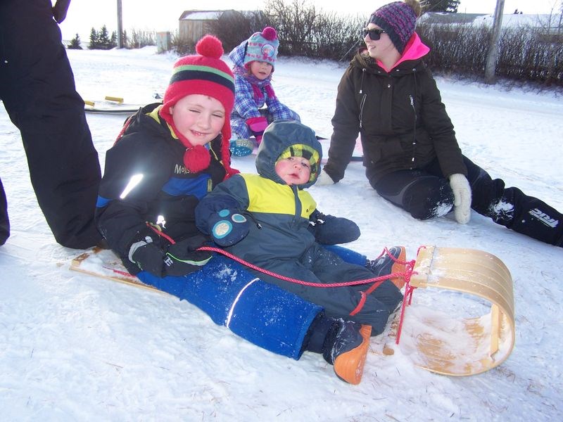
[[[309,219],[309,230],[322,245],[348,243],[360,237],[358,224],[350,219],[324,215],[318,210],[315,210]]]

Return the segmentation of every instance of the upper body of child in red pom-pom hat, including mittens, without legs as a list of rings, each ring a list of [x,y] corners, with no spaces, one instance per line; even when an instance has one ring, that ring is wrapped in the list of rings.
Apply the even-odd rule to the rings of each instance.
[[[205,238],[194,208],[237,172],[229,155],[232,72],[219,39],[204,37],[196,51],[175,63],[163,104],[132,115],[106,154],[96,222],[132,274],[183,276],[205,264],[210,253],[196,252]]]

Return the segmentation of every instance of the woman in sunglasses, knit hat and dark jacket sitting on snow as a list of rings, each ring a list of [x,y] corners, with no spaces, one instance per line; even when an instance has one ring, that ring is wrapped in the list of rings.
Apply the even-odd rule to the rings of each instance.
[[[462,155],[453,124],[424,57],[430,49],[415,32],[420,4],[396,1],[374,11],[362,31],[365,48],[344,73],[332,118],[327,165],[317,186],[344,177],[358,132],[369,184],[416,219],[453,210],[460,224],[471,209],[532,238],[562,246],[563,215],[505,188]]]

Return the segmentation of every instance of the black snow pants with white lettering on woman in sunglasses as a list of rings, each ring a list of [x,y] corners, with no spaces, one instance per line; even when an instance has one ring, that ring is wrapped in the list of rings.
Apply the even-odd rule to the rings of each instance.
[[[501,224],[550,245],[563,245],[563,215],[519,188],[505,187],[469,158],[467,179],[472,188],[472,209]],[[441,217],[453,209],[453,192],[434,160],[419,170],[391,172],[372,183],[380,196],[410,212],[417,219]]]

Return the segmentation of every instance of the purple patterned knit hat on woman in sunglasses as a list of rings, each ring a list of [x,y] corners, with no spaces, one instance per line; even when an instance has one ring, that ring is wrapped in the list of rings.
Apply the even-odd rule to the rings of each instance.
[[[403,54],[405,45],[415,33],[417,15],[404,1],[395,1],[374,11],[369,17],[369,23],[385,30],[397,51]]]

